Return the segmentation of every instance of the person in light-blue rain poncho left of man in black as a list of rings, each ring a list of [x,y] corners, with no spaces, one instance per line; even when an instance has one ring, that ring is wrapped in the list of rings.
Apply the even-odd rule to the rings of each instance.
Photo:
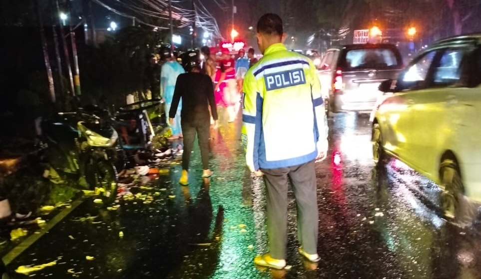
[[[165,100],[165,115],[167,117],[169,114],[170,105],[172,103],[172,97],[174,95],[175,81],[177,80],[177,76],[179,76],[181,73],[184,73],[185,70],[177,62],[177,59],[175,58],[170,47],[163,46],[160,49],[160,58],[165,61],[160,70],[160,92]],[[182,100],[179,100],[177,105],[182,107]],[[172,135],[168,137],[169,140],[182,137],[180,118],[180,114],[178,114],[175,117],[175,121],[168,123],[172,129]]]

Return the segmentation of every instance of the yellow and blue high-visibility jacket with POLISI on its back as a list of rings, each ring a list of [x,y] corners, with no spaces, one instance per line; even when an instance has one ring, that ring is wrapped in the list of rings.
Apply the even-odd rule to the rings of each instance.
[[[282,43],[246,73],[242,142],[251,171],[295,166],[327,148],[327,120],[314,63]]]

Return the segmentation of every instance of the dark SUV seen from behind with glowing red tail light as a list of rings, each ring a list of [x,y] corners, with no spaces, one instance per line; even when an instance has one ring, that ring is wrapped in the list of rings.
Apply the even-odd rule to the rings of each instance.
[[[371,112],[379,84],[403,68],[399,49],[388,43],[348,44],[327,50],[318,75],[329,112]]]

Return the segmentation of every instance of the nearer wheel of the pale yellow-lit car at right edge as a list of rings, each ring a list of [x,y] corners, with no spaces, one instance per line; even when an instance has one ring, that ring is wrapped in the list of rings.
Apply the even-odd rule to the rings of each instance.
[[[441,214],[448,219],[458,220],[464,192],[458,165],[452,159],[445,159],[441,163],[439,174]]]

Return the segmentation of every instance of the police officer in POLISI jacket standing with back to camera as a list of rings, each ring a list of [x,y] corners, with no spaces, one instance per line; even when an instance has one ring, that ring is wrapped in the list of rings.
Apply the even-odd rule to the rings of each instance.
[[[264,176],[267,187],[269,253],[254,262],[278,269],[286,266],[289,180],[298,208],[298,251],[309,261],[320,260],[314,163],[326,157],[328,146],[316,67],[287,50],[285,37],[279,15],[266,13],[259,19],[257,42],[264,57],[246,73],[242,116],[247,166]],[[293,142],[296,148],[289,148]]]

